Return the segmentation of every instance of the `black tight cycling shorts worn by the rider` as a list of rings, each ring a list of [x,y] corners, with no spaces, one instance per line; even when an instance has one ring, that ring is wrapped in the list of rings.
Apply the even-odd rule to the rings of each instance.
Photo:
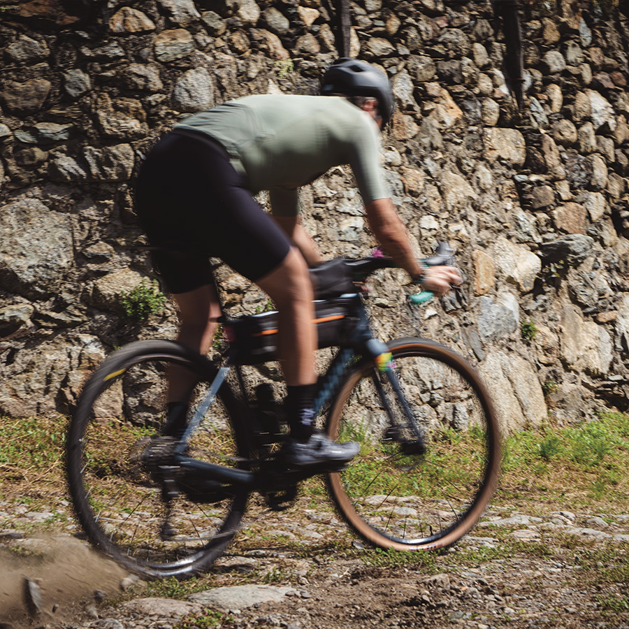
[[[229,154],[209,137],[175,131],[159,140],[140,168],[136,212],[154,268],[175,294],[212,282],[210,257],[256,282],[291,247]]]

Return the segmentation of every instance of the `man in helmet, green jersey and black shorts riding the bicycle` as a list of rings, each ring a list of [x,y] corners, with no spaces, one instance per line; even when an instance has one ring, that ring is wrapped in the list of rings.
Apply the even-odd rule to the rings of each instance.
[[[298,188],[349,164],[387,254],[436,294],[461,282],[454,268],[420,268],[386,193],[378,136],[393,106],[384,74],[339,59],[324,74],[321,96],[245,96],[187,117],[159,140],[138,175],[138,217],[178,305],[180,342],[205,354],[215,333],[220,311],[210,256],[273,300],[291,429],[283,456],[296,468],[341,466],[358,451],[358,444],[332,442],[313,426],[317,332],[308,266],[321,257],[299,220]],[[269,191],[272,215],[253,198],[261,190]],[[171,371],[164,434],[185,429],[191,386],[185,373]]]

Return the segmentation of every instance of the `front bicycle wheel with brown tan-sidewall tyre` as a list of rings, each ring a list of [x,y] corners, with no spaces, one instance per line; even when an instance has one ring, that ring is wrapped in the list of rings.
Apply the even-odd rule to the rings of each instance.
[[[363,360],[345,378],[327,425],[334,440],[361,442],[361,452],[345,470],[328,475],[328,491],[348,525],[370,544],[448,547],[475,525],[496,489],[496,412],[479,375],[456,352],[421,338],[388,345],[426,453],[403,450],[399,433],[411,441],[411,450],[414,439],[407,424],[397,436],[386,432],[389,419],[374,380],[386,383],[386,377]],[[392,389],[387,395],[395,398]],[[402,417],[399,403],[393,410]]]

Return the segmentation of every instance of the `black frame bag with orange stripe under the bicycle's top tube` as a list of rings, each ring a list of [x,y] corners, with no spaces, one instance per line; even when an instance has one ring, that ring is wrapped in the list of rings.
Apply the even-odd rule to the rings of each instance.
[[[343,345],[352,330],[349,317],[352,297],[315,301],[315,320],[319,349]],[[277,310],[228,319],[223,324],[234,361],[239,365],[258,365],[277,360]]]

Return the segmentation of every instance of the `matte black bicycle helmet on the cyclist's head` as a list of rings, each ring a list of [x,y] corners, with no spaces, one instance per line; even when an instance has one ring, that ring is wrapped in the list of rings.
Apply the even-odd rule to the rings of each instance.
[[[342,57],[337,59],[321,79],[321,94],[373,96],[378,101],[382,126],[391,120],[395,100],[391,83],[382,72],[367,62]]]

